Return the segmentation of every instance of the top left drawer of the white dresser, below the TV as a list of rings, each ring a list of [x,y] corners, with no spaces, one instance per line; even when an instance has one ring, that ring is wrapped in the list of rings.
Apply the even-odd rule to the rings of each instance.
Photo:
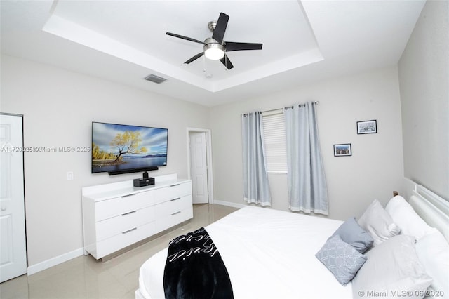
[[[151,206],[153,203],[153,190],[116,197],[95,203],[95,221],[105,220],[140,208]]]

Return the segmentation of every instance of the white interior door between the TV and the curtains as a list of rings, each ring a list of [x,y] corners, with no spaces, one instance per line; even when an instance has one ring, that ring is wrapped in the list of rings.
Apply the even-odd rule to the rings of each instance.
[[[208,164],[206,154],[206,133],[190,132],[190,178],[192,179],[192,201],[194,204],[207,204]]]

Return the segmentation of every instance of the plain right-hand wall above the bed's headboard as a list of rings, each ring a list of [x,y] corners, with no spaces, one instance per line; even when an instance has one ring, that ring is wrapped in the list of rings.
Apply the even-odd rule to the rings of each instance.
[[[404,174],[449,200],[449,1],[427,1],[398,63]]]

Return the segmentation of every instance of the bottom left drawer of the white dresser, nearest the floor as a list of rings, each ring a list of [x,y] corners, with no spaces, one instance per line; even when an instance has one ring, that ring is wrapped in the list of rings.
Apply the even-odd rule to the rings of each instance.
[[[102,258],[105,255],[119,251],[142,239],[151,237],[153,234],[156,234],[156,225],[154,222],[150,222],[146,225],[130,229],[128,232],[116,234],[113,237],[99,241],[97,243],[96,252],[91,254],[97,259]]]

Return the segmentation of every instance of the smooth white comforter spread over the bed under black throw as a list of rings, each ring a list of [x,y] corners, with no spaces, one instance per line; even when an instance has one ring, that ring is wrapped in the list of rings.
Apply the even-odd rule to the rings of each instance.
[[[339,220],[248,206],[206,227],[225,262],[234,298],[352,298],[315,253]],[[143,298],[164,298],[167,248],[140,268]]]

